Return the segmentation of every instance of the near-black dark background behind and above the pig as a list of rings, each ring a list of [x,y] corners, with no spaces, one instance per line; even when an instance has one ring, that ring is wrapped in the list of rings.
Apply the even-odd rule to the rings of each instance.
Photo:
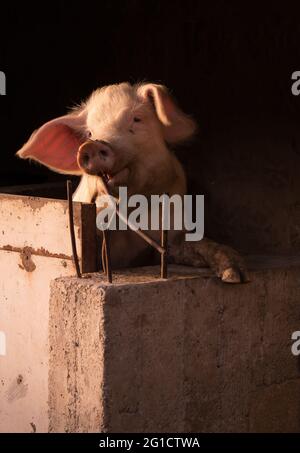
[[[1,5],[0,186],[66,179],[14,153],[96,87],[167,85],[199,123],[177,151],[206,234],[251,253],[300,250],[300,14],[281,4],[102,0]]]

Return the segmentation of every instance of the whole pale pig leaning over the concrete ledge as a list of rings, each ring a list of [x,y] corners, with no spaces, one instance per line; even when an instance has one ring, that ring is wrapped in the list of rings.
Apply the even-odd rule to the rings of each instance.
[[[94,202],[107,186],[116,194],[168,193],[183,196],[187,181],[172,148],[195,135],[195,120],[176,104],[168,89],[155,83],[127,82],[95,90],[64,116],[36,130],[17,152],[64,174],[81,176],[74,201]],[[157,231],[149,235],[158,239]],[[243,258],[232,248],[203,238],[184,240],[183,231],[169,234],[168,258],[191,266],[209,266],[225,283],[248,281]],[[113,268],[149,265],[157,252],[131,230],[113,231]]]

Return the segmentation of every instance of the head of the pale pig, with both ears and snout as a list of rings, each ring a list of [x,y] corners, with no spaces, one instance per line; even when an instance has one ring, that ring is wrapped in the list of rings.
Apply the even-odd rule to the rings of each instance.
[[[106,175],[112,191],[159,193],[175,177],[167,145],[195,129],[164,86],[121,83],[44,124],[17,154],[60,173]]]

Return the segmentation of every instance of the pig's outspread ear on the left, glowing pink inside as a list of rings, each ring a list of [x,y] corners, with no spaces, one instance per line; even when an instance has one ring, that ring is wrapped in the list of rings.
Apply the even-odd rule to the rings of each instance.
[[[84,110],[55,118],[36,130],[17,152],[22,159],[34,159],[59,173],[81,175],[77,151],[84,142]]]

